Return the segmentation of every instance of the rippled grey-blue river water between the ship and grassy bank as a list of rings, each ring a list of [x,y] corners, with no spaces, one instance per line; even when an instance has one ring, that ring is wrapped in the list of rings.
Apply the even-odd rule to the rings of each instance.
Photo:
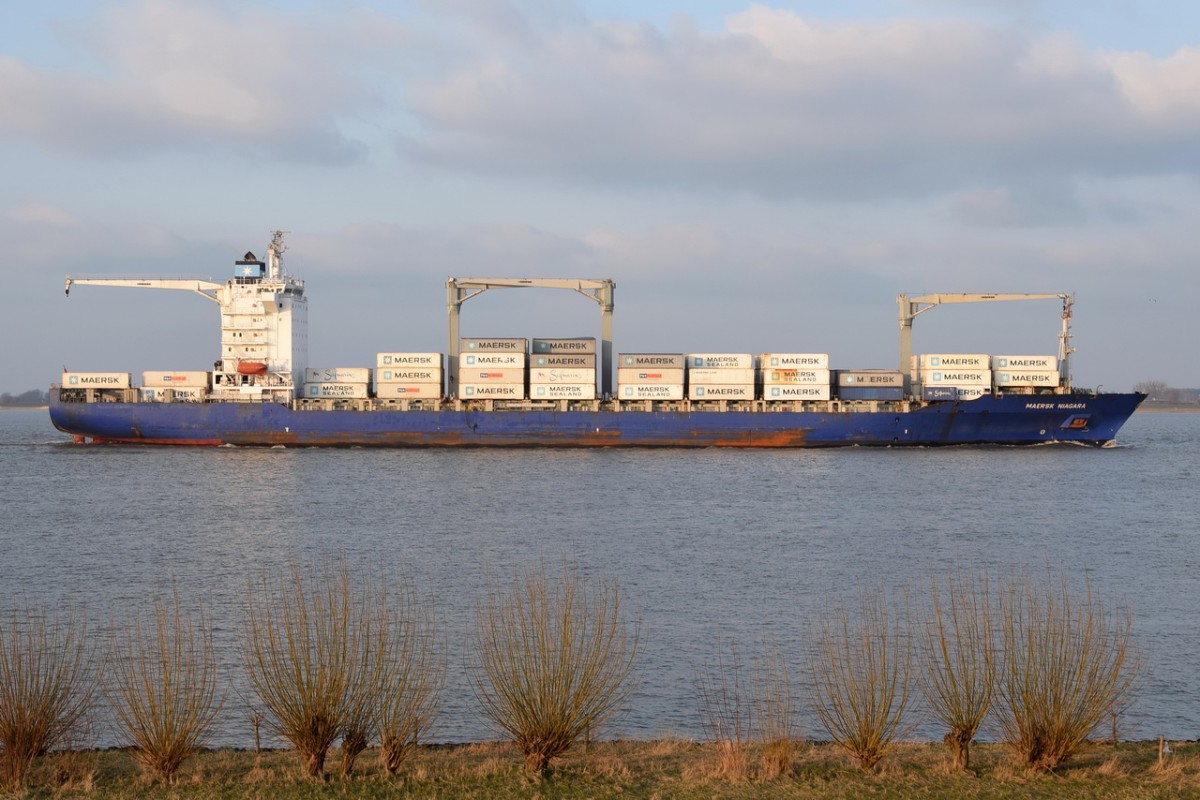
[[[803,704],[800,654],[832,604],[912,603],[953,569],[1062,570],[1133,612],[1148,668],[1122,735],[1195,739],[1198,479],[1200,414],[1139,413],[1104,450],[456,452],[78,446],[44,410],[4,410],[0,608],[82,602],[102,627],[178,587],[216,626],[214,744],[246,746],[247,579],[342,553],[434,610],[449,678],[433,738],[464,741],[493,735],[466,680],[475,603],[515,570],[570,561],[614,578],[640,620],[638,688],[610,735],[698,738],[696,674],[721,642],[772,642]]]

